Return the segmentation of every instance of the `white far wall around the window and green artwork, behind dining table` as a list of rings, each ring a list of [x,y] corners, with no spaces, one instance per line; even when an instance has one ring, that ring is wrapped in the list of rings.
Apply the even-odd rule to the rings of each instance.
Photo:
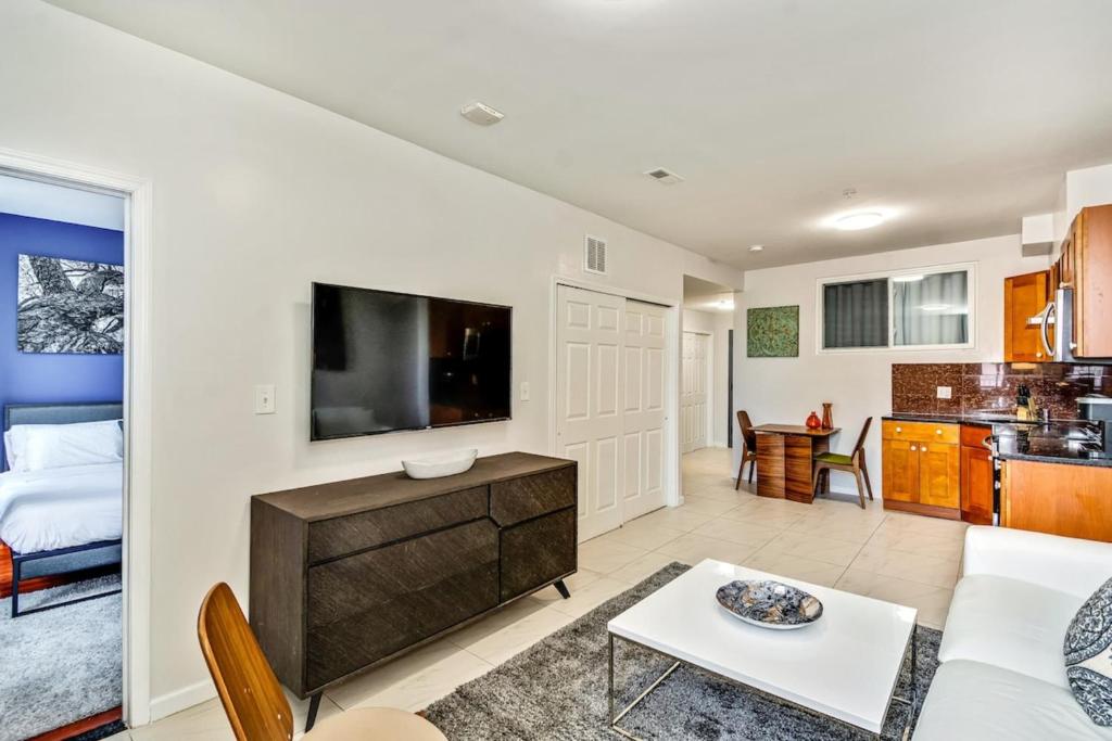
[[[867,464],[874,491],[878,491],[882,483],[880,418],[892,410],[892,363],[1002,361],[1004,278],[1043,270],[1050,264],[1049,257],[1024,258],[1020,250],[1020,237],[1014,234],[747,271],[745,290],[736,300],[735,404],[748,410],[754,424],[803,424],[811,411],[822,414],[822,402],[834,402],[834,424],[843,429],[832,443],[838,452],[850,452],[865,418],[872,415]],[[817,279],[956,262],[976,263],[976,347],[973,349],[816,352]],[[800,306],[800,357],[746,358],[745,310],[791,304]],[[835,473],[833,487],[854,490],[848,474],[843,478]]]

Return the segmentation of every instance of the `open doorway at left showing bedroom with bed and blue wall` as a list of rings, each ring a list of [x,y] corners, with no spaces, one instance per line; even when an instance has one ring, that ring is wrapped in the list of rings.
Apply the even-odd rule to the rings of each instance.
[[[0,172],[0,741],[122,730],[126,217]]]

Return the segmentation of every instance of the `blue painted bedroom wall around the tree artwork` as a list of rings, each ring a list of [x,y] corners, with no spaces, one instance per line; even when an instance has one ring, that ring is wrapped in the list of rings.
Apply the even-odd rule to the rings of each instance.
[[[123,356],[38,354],[16,349],[20,254],[119,266],[123,264],[123,232],[0,213],[0,405],[122,399]]]

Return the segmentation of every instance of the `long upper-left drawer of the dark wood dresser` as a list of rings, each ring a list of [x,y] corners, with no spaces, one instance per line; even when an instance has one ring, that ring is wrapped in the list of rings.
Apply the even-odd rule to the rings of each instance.
[[[431,532],[487,515],[487,488],[309,523],[309,563]]]

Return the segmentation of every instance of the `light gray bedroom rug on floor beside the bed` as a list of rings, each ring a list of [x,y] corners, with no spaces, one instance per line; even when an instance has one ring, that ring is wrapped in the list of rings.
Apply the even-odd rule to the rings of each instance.
[[[119,589],[119,575],[20,595],[20,609]],[[11,619],[0,600],[0,741],[18,741],[120,704],[120,595]]]

